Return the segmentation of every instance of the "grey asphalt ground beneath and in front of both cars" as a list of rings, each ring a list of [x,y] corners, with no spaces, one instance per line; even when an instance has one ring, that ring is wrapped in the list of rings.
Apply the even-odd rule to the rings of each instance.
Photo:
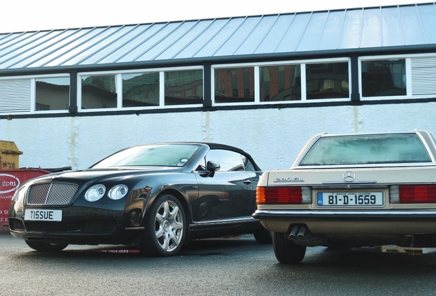
[[[195,240],[171,258],[71,245],[32,251],[0,232],[0,295],[435,295],[436,257],[380,249],[308,248],[278,263],[251,235]]]

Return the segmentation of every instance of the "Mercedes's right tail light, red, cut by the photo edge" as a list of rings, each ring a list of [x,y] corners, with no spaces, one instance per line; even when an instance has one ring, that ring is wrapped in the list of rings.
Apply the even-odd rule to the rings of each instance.
[[[436,184],[411,184],[391,186],[391,203],[436,203]]]

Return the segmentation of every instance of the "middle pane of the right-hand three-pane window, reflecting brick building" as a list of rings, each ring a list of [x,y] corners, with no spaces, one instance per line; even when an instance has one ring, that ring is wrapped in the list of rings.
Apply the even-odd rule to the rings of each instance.
[[[299,101],[301,100],[301,66],[261,66],[260,101]]]

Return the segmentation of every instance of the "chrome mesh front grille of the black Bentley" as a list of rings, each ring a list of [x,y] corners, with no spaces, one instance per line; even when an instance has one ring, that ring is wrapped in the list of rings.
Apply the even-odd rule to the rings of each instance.
[[[27,204],[66,205],[71,202],[77,190],[76,184],[44,183],[32,185],[27,194]]]

